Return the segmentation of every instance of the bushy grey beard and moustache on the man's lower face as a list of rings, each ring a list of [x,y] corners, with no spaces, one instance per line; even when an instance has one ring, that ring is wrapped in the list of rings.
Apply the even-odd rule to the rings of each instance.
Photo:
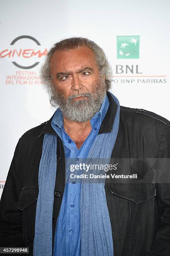
[[[91,120],[91,118],[93,118],[100,110],[106,95],[105,82],[92,84],[91,87],[94,88],[94,92],[71,95],[67,99],[64,97],[61,90],[56,89],[54,97],[66,119],[79,123],[86,122]],[[81,96],[86,97],[86,99],[73,100],[74,98]]]

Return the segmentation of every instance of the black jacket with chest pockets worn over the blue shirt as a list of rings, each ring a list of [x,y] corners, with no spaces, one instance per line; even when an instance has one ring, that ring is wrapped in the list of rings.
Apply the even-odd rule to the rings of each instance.
[[[99,133],[112,130],[117,110],[109,92],[107,95],[110,104]],[[43,138],[45,133],[56,135],[52,118],[19,139],[0,200],[0,246],[29,246],[29,255],[33,255]],[[57,140],[53,240],[65,186],[63,144],[59,137]],[[121,106],[112,158],[170,158],[170,122],[146,110]],[[169,183],[123,184],[106,179],[105,192],[114,256],[170,255]]]

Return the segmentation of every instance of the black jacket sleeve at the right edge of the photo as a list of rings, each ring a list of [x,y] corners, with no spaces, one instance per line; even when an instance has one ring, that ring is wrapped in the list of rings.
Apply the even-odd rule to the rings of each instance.
[[[155,236],[150,254],[153,256],[168,256],[170,255],[170,125],[162,133],[157,153],[157,159],[159,158],[162,158],[160,161],[165,161],[163,158],[167,159],[168,167],[163,182],[156,184],[157,199],[163,213],[160,219],[160,228]]]

